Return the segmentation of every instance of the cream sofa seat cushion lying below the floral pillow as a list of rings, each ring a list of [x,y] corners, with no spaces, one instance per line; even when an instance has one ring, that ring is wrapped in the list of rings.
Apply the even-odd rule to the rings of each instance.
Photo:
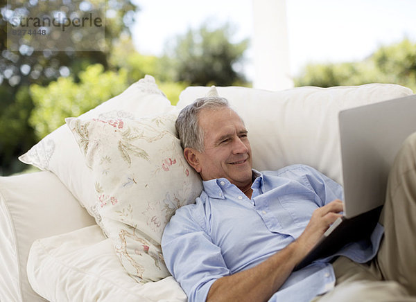
[[[187,301],[171,276],[146,284],[130,278],[97,225],[36,240],[28,278],[48,301]]]

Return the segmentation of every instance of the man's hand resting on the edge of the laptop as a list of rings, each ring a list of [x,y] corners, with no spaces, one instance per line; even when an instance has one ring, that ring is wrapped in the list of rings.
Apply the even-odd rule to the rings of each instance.
[[[338,217],[342,217],[340,214],[341,211],[343,211],[343,202],[339,199],[333,200],[333,202],[329,202],[329,204],[313,211],[309,224],[306,226],[302,235],[296,240],[298,248],[302,249],[303,256],[306,256],[311,251],[329,226]]]

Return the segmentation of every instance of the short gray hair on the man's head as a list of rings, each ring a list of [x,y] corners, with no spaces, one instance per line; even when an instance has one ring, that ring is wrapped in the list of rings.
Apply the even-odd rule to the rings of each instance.
[[[177,116],[175,127],[180,138],[182,148],[193,148],[203,152],[204,132],[198,125],[198,115],[202,109],[219,109],[229,107],[228,100],[219,96],[197,98],[193,103],[184,107]]]

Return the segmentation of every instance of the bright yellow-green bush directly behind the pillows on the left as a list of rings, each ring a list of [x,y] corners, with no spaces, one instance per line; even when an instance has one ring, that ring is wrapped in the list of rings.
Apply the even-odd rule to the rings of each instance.
[[[38,139],[42,139],[64,123],[64,118],[79,116],[127,88],[127,71],[105,71],[94,64],[79,73],[80,82],[73,78],[58,78],[47,87],[31,85],[35,108],[29,118]]]

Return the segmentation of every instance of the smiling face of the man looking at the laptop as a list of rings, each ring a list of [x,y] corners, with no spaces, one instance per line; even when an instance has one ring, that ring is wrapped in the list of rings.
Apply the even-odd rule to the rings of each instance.
[[[204,109],[198,125],[204,133],[204,152],[193,150],[192,165],[203,180],[225,177],[237,187],[251,186],[252,153],[247,130],[232,109]]]

